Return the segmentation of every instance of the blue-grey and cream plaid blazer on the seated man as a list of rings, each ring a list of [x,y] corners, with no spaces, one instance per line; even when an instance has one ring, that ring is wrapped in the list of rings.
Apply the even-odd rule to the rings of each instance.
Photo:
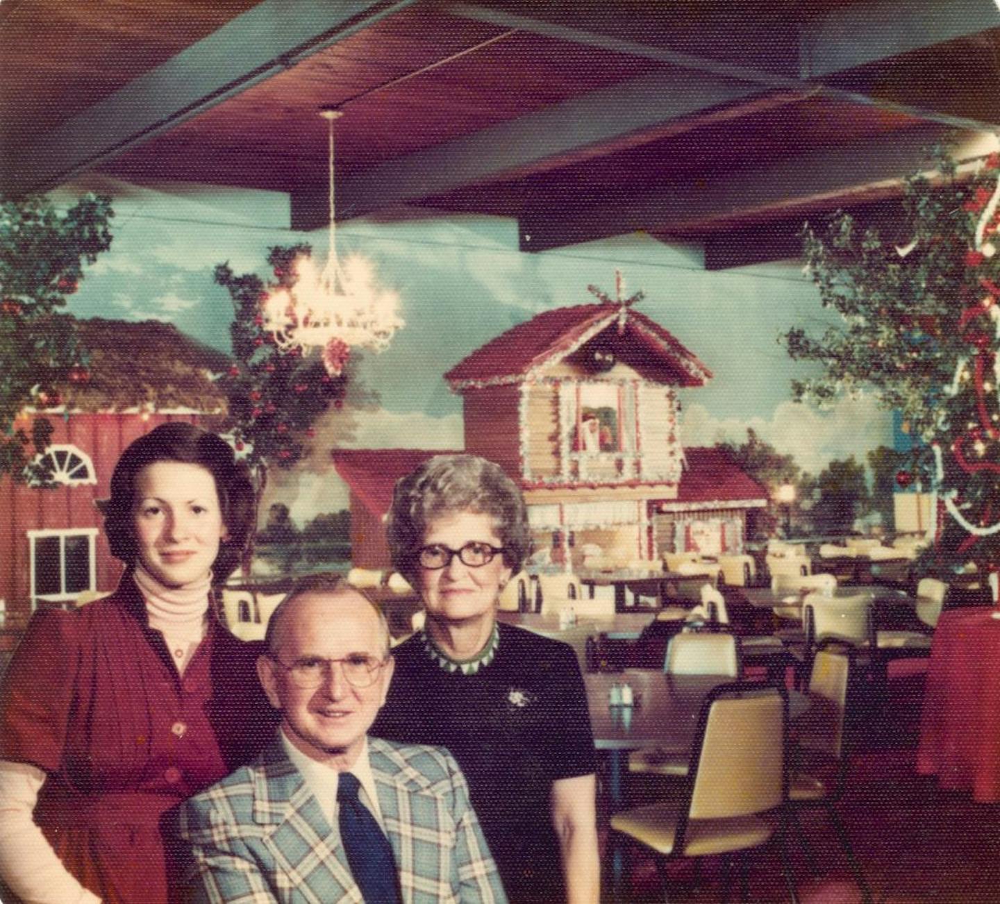
[[[505,902],[451,754],[380,738],[368,739],[368,751],[405,904]],[[178,825],[194,855],[192,901],[362,904],[340,830],[327,823],[280,737],[188,800]]]

